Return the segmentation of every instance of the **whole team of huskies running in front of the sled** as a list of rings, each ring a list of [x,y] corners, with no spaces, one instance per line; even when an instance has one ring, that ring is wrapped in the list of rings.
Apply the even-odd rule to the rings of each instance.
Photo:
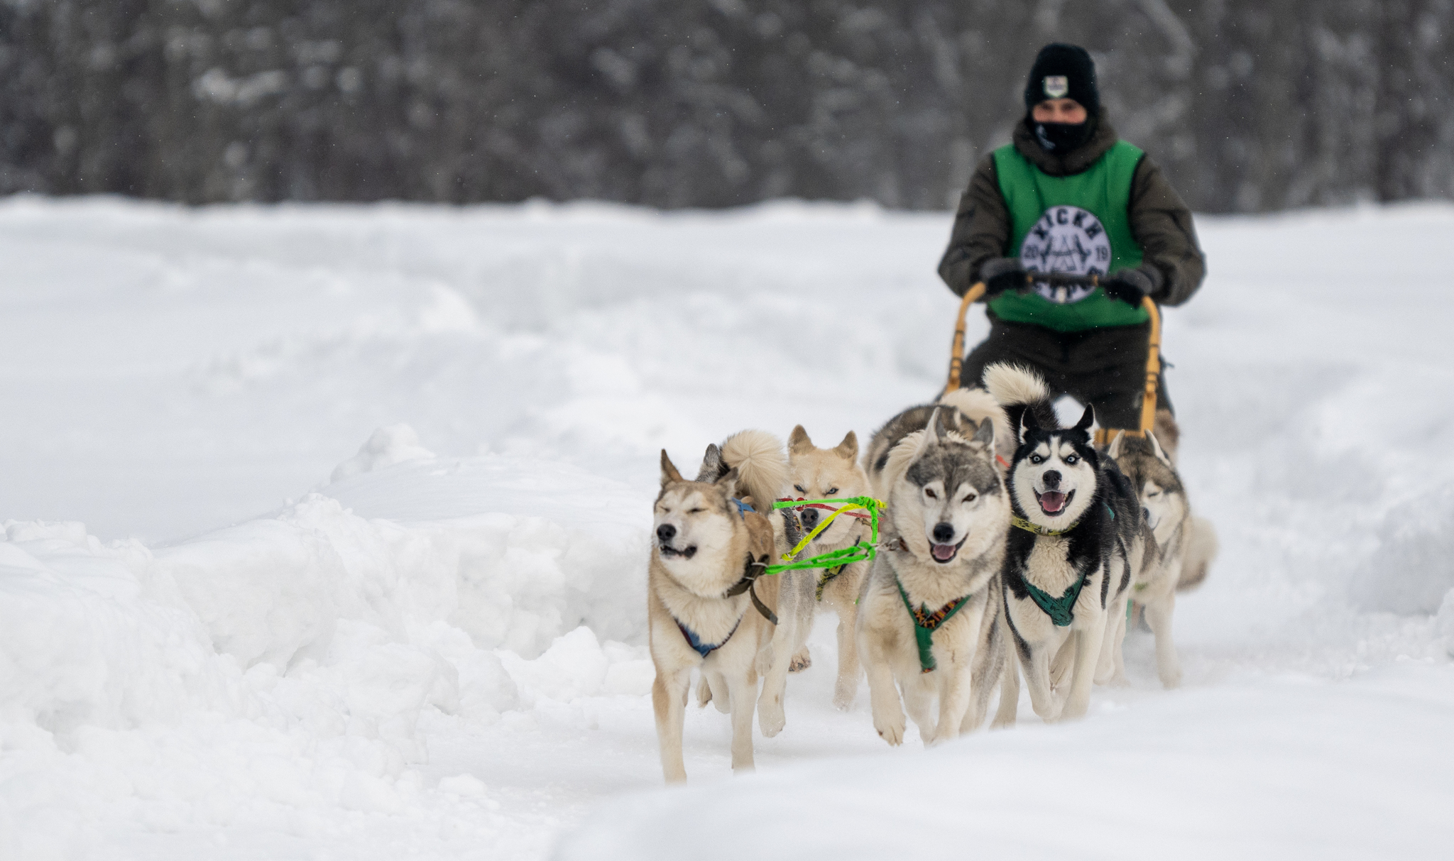
[[[763,736],[782,732],[788,673],[810,663],[819,605],[838,614],[833,705],[848,708],[867,675],[890,745],[906,714],[926,745],[980,727],[996,688],[995,726],[1012,726],[1021,673],[1043,720],[1083,716],[1092,684],[1125,682],[1121,641],[1137,609],[1162,682],[1179,684],[1176,590],[1205,577],[1216,535],[1191,515],[1175,449],[1147,432],[1098,451],[1092,420],[1088,407],[1061,428],[1040,377],[993,365],[984,388],[890,419],[862,462],[852,430],[819,448],[801,425],[785,457],[763,430],[707,446],[695,480],[663,451],[647,606],[666,780],[686,778],[694,669],[698,704],[731,714],[733,768],[752,768],[753,708]],[[832,515],[775,500],[853,496],[887,502],[872,561],[763,576]],[[867,518],[840,515],[801,558],[869,535]]]

